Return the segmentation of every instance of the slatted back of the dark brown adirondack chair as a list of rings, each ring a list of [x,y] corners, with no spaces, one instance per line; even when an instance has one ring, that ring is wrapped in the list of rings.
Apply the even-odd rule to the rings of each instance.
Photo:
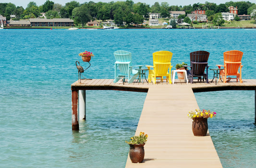
[[[203,75],[206,64],[192,64],[191,62],[207,62],[210,53],[207,51],[194,51],[190,53],[190,66],[192,75]]]

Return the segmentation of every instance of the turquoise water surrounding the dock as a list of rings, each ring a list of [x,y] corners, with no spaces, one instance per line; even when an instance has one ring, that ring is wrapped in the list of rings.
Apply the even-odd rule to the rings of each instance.
[[[169,50],[173,66],[189,53],[244,52],[243,78],[256,78],[256,29],[246,30],[7,30],[0,31],[0,167],[122,168],[146,93],[86,91],[87,120],[71,129],[71,88],[78,53],[91,51],[86,78],[113,78],[116,50],[133,53],[134,65],[151,65],[152,53]],[[209,78],[212,78],[212,74]],[[224,168],[256,165],[254,91],[195,94],[200,109],[217,112],[209,131]],[[149,135],[150,136],[150,135]]]

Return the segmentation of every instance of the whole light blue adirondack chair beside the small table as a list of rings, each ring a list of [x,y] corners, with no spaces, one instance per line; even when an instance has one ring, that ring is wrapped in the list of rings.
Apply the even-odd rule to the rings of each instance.
[[[142,66],[132,66],[132,53],[128,51],[115,51],[114,56],[116,58],[114,83],[118,82],[121,78],[123,80],[128,79],[128,83],[132,83],[139,75],[139,71],[133,69],[133,67],[141,69]]]

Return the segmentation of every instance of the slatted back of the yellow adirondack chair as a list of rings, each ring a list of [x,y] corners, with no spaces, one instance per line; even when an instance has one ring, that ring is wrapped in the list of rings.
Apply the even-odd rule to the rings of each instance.
[[[153,53],[153,65],[156,75],[166,75],[171,64],[172,53],[170,51],[158,51]],[[170,63],[170,64],[156,64]]]

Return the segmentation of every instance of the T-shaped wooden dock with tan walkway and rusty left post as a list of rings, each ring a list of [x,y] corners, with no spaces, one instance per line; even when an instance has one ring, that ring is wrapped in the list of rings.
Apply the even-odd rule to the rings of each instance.
[[[176,79],[178,80],[178,79]],[[82,79],[71,85],[72,128],[79,129],[77,121],[78,90],[124,90],[147,92],[143,110],[136,129],[148,134],[143,163],[134,164],[127,157],[126,168],[222,168],[209,133],[198,137],[192,133],[191,110],[199,109],[194,92],[217,90],[256,90],[256,79],[243,83],[230,81],[186,84],[169,83],[113,83],[113,79]],[[176,83],[177,82],[177,83]]]

